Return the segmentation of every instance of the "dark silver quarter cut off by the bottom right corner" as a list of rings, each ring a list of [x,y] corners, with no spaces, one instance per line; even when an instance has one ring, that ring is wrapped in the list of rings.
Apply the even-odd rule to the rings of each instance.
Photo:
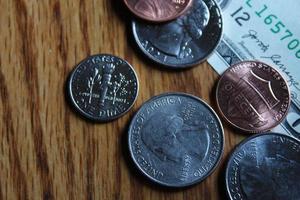
[[[226,168],[231,200],[300,199],[300,142],[278,133],[243,141]]]

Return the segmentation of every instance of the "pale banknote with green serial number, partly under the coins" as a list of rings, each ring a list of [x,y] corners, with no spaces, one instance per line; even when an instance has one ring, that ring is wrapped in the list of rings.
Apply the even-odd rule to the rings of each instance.
[[[243,60],[260,60],[281,72],[292,103],[287,118],[273,131],[300,139],[300,1],[219,0],[223,38],[208,59],[222,74]]]

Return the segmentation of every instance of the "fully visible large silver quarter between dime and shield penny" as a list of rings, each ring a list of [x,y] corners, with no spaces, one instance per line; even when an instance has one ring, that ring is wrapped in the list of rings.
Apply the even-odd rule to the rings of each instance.
[[[137,168],[169,187],[204,180],[217,167],[224,147],[222,124],[213,109],[184,93],[148,100],[132,119],[128,137]]]

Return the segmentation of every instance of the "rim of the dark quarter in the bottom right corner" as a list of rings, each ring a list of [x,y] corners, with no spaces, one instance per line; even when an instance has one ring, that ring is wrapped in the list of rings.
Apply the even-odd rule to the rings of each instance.
[[[297,144],[300,145],[300,141],[298,141],[297,139],[289,136],[289,135],[285,135],[283,133],[276,133],[276,132],[267,132],[267,133],[262,133],[262,134],[255,134],[255,135],[252,135],[244,140],[242,140],[232,151],[230,157],[229,157],[229,160],[227,162],[227,165],[226,165],[226,171],[225,171],[225,182],[226,182],[226,192],[227,192],[227,195],[228,195],[228,198],[230,200],[234,200],[231,196],[231,193],[230,193],[230,189],[229,189],[229,183],[228,183],[228,178],[229,178],[229,166],[230,164],[233,162],[233,159],[234,159],[234,156],[235,154],[238,152],[239,149],[242,149],[241,147],[244,146],[246,143],[248,143],[249,141],[257,138],[257,137],[265,137],[265,136],[280,136],[280,137],[286,137],[288,139],[291,139],[291,140],[294,140]]]

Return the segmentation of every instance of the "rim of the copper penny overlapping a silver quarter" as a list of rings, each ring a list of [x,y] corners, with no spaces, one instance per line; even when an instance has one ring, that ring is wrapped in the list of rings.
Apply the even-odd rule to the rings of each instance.
[[[160,23],[160,22],[167,22],[167,21],[171,21],[174,20],[182,15],[184,15],[190,8],[192,5],[192,2],[194,0],[189,0],[189,3],[186,5],[186,7],[181,11],[178,12],[176,15],[172,15],[171,17],[165,17],[165,18],[160,18],[160,19],[155,19],[155,18],[148,18],[145,17],[144,15],[141,15],[139,13],[137,13],[128,3],[128,0],[123,0],[124,4],[126,5],[126,7],[131,11],[131,13],[133,13],[136,17],[139,17],[143,20],[149,21],[149,22],[153,22],[153,23]]]

